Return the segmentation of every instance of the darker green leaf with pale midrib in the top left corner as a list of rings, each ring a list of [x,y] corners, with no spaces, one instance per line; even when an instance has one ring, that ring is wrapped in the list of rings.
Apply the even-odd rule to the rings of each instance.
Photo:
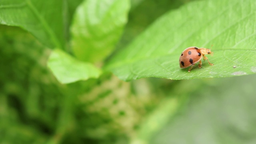
[[[63,0],[1,0],[0,24],[20,26],[50,48],[64,46]]]

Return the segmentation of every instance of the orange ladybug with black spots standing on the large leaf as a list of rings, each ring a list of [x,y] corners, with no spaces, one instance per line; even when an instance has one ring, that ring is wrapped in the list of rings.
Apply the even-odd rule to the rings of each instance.
[[[198,67],[201,68],[202,57],[204,57],[204,60],[208,60],[208,58],[204,56],[206,54],[213,54],[213,52],[209,48],[197,48],[194,46],[186,48],[180,55],[180,68],[187,68],[191,66],[188,70],[188,72],[190,72],[190,70],[197,62],[199,62]],[[213,66],[213,64],[211,64],[210,62],[209,64]]]

